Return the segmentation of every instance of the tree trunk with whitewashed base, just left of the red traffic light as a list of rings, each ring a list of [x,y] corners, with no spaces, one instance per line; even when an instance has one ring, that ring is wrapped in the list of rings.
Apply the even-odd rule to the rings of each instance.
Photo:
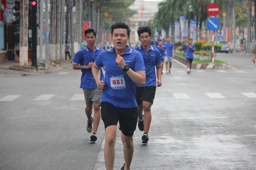
[[[20,1],[20,65],[28,65],[29,2]]]

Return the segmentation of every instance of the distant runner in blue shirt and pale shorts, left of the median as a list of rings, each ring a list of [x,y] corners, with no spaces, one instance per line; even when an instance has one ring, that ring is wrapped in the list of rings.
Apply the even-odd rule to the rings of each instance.
[[[167,49],[167,54],[164,56],[164,62],[166,63],[166,74],[171,73],[171,67],[172,67],[172,58],[174,57],[174,45],[171,42],[171,37],[166,37],[166,42],[163,43],[163,45]],[[168,67],[169,64],[169,67]]]

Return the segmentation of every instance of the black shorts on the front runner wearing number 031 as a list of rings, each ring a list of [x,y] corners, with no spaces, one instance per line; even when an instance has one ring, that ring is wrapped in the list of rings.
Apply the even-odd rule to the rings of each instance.
[[[117,125],[119,121],[119,129],[125,136],[132,136],[134,134],[138,121],[137,107],[120,108],[108,102],[102,102],[100,106],[105,129],[108,126]]]

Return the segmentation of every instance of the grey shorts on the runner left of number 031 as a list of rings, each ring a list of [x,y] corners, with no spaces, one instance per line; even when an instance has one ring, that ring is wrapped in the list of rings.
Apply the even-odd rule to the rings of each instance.
[[[102,96],[102,89],[98,88],[83,88],[84,99],[87,107],[92,106],[93,102],[100,105],[100,100]]]

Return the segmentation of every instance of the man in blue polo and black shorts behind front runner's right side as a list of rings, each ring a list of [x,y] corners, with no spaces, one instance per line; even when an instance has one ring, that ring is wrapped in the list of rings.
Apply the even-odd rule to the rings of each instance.
[[[151,106],[153,105],[154,96],[156,94],[156,86],[162,86],[162,67],[161,67],[161,54],[157,48],[153,48],[150,45],[151,32],[149,26],[140,26],[138,28],[138,35],[141,45],[136,47],[134,50],[138,50],[144,59],[146,68],[146,82],[143,87],[136,88],[136,101],[138,104],[138,126],[140,131],[144,131],[141,137],[142,143],[147,144],[149,140],[148,132],[150,127],[151,116]],[[157,68],[157,79],[156,71]],[[144,117],[143,117],[144,111]]]

